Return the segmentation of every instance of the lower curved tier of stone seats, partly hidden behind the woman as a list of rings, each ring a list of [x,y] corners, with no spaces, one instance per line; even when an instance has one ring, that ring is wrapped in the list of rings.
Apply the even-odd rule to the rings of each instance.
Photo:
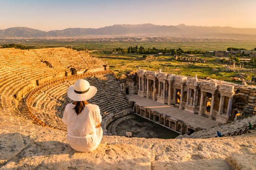
[[[119,113],[131,113],[131,108],[112,73],[85,77],[85,79],[90,82],[90,85],[98,88],[96,96],[89,100],[89,102],[95,103],[100,107],[103,121],[108,119],[105,115],[116,115],[118,118]],[[33,108],[33,115],[45,124],[58,127],[59,129],[66,129],[61,118],[65,105],[72,102],[68,99],[66,91],[76,80],[67,79],[63,82],[48,82],[47,85],[44,85],[45,87],[31,96],[33,100],[28,102],[30,103],[29,106]],[[110,87],[111,85],[113,87]],[[117,96],[117,99],[114,96]]]

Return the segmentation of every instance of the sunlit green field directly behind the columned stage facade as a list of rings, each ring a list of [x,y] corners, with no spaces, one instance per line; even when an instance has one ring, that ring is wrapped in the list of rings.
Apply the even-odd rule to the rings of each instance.
[[[223,80],[233,83],[241,83],[233,81],[233,77],[238,72],[221,71],[225,65],[222,65],[216,57],[205,57],[203,55],[197,56],[203,58],[206,63],[186,62],[174,60],[172,56],[150,56],[143,59],[142,55],[104,55],[104,54],[91,54],[94,57],[101,58],[106,61],[109,68],[113,70],[119,78],[124,78],[126,72],[147,69],[151,71],[158,71],[161,69],[164,73],[172,73],[184,76],[198,78],[209,77],[212,79]],[[252,68],[252,66],[245,66],[245,68]],[[245,80],[250,81],[253,73],[244,72],[248,74]]]

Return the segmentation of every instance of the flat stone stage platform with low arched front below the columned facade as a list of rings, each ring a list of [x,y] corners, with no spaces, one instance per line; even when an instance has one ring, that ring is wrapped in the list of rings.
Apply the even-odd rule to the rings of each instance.
[[[178,109],[173,105],[152,101],[135,94],[127,95],[127,98],[132,103],[134,112],[137,115],[152,120],[179,134],[190,134],[202,129],[209,129],[219,123],[215,120]]]

